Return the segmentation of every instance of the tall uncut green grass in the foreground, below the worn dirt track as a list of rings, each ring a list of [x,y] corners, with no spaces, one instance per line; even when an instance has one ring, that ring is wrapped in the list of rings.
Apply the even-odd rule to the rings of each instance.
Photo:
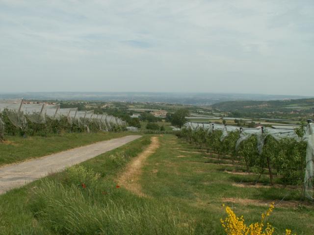
[[[127,193],[121,190],[120,199]],[[29,206],[36,218],[57,234],[181,235],[191,231],[163,206],[136,200],[126,205],[116,196],[46,180],[34,190]]]

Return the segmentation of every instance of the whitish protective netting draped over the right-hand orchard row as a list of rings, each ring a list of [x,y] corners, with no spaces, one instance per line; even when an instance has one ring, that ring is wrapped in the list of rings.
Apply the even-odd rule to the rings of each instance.
[[[295,130],[290,129],[273,129],[268,127],[261,128],[242,128],[238,126],[229,126],[216,123],[195,123],[187,122],[183,129],[189,130],[187,133],[203,130],[207,133],[219,130],[221,131],[220,141],[222,142],[231,133],[238,132],[238,137],[235,144],[235,150],[238,150],[241,142],[256,137],[257,152],[261,156],[263,154],[263,146],[267,138],[271,137],[275,141],[293,140],[297,142],[306,142],[306,156],[303,156],[306,162],[304,176],[304,193],[305,196],[314,200],[314,124],[309,121],[308,125]],[[245,143],[244,143],[245,144]],[[279,153],[279,150],[278,150]],[[267,153],[265,153],[267,154]],[[293,154],[293,153],[292,153]]]

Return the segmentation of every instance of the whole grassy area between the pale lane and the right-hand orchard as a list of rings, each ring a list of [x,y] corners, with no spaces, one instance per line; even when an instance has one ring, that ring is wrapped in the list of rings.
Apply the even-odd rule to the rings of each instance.
[[[224,234],[222,204],[285,229],[313,234],[314,206],[301,190],[270,186],[267,176],[245,174],[231,160],[216,159],[174,135],[158,135],[158,146],[135,172],[131,190],[119,178],[151,135],[0,196],[0,234]],[[155,139],[156,140],[156,139]],[[124,182],[128,184],[128,182]]]

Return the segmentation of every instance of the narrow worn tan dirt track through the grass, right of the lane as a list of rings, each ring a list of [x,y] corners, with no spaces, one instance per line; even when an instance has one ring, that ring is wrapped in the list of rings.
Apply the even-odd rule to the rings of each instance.
[[[126,168],[120,178],[117,180],[118,184],[124,186],[131,192],[139,196],[146,196],[142,192],[141,185],[138,184],[138,179],[142,173],[142,165],[147,157],[155,153],[159,147],[158,137],[152,137],[152,143],[140,153]]]

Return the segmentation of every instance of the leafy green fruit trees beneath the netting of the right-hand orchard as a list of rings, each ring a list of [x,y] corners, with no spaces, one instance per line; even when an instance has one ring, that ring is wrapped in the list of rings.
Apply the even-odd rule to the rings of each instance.
[[[299,129],[301,133],[299,136],[304,136],[304,128]],[[202,127],[196,130],[183,128],[177,136],[193,142],[199,148],[211,150],[219,155],[231,155],[232,159],[240,156],[248,172],[262,174],[265,168],[268,168],[271,183],[275,174],[283,184],[302,185],[306,166],[306,142],[304,141],[290,138],[276,141],[272,136],[267,136],[263,141],[260,155],[256,135],[242,141],[237,150],[235,145],[239,138],[238,131],[229,133],[223,140],[221,140],[221,130],[209,131]]]

